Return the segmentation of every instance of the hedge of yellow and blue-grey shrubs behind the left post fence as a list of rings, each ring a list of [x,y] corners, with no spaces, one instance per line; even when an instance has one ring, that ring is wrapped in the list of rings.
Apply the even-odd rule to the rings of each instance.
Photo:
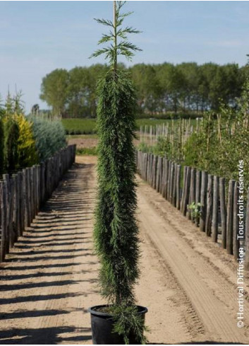
[[[44,161],[66,146],[59,121],[2,112],[0,116],[0,174],[13,173]]]

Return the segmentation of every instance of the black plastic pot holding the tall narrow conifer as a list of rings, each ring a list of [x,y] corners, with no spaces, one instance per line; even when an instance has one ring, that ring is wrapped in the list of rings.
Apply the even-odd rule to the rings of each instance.
[[[113,316],[109,313],[98,311],[106,306],[108,305],[98,305],[88,309],[91,313],[92,343],[93,345],[124,345],[123,338],[119,334],[113,333]],[[138,313],[145,320],[145,313],[148,311],[147,308],[143,306],[137,307]],[[139,345],[133,333],[130,333],[129,340],[130,345]]]

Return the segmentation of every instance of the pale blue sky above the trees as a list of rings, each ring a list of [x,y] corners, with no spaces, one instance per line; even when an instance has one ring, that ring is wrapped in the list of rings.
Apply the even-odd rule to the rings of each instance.
[[[142,48],[131,64],[247,62],[249,1],[127,1],[124,9],[134,11],[125,24],[142,30],[130,36]],[[103,63],[89,59],[107,31],[94,18],[111,17],[112,1],[0,1],[1,98],[21,90],[27,112],[48,108],[42,78]]]

